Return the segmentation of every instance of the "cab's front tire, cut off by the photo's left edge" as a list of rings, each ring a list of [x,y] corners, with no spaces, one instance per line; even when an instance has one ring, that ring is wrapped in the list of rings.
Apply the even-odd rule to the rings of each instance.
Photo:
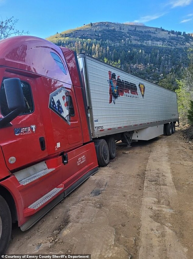
[[[5,254],[11,236],[12,220],[9,206],[0,195],[0,255]]]

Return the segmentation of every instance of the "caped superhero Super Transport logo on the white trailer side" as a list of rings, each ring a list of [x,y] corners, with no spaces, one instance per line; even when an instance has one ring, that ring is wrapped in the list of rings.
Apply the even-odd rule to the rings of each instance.
[[[116,79],[116,74],[112,73],[111,71],[109,73],[109,103],[114,103],[115,100],[119,96],[125,96],[125,97],[130,97],[134,99],[139,99],[138,92],[137,92],[137,86],[134,83],[121,80],[120,76],[117,76]],[[139,83],[139,89],[142,94],[142,97],[144,97],[145,93],[145,86],[144,84]]]

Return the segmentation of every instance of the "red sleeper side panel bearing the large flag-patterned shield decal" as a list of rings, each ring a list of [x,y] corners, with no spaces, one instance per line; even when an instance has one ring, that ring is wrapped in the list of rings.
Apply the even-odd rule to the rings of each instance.
[[[48,155],[68,152],[82,145],[82,128],[73,86],[42,77],[42,109]],[[48,109],[49,108],[49,109]],[[46,109],[49,112],[46,114]],[[48,115],[49,114],[49,115]]]

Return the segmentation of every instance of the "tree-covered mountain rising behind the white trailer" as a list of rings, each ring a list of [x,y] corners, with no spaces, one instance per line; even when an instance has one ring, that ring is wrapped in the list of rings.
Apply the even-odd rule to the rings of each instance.
[[[56,33],[47,40],[155,83],[170,75],[172,89],[175,89],[175,79],[188,66],[186,51],[193,45],[192,34],[142,23],[89,23]]]

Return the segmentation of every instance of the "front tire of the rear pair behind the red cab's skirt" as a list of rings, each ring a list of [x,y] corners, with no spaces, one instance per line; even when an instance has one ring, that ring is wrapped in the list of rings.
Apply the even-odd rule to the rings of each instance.
[[[109,148],[107,145],[106,140],[104,139],[98,139],[95,140],[95,143],[99,145],[99,152],[97,154],[97,160],[99,166],[107,166],[109,163]]]

